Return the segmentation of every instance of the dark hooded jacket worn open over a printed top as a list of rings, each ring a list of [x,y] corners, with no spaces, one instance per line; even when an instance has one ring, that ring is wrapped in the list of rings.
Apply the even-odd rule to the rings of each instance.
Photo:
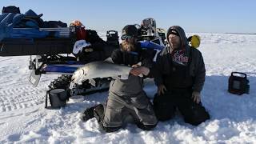
[[[200,92],[203,88],[205,77],[206,77],[206,69],[205,64],[203,62],[202,54],[199,50],[191,48],[187,41],[184,30],[179,26],[170,27],[168,31],[171,29],[175,29],[178,31],[178,34],[181,37],[182,45],[179,50],[184,51],[184,55],[188,58],[188,61],[185,63],[186,69],[183,69],[184,77],[186,82],[181,82],[179,84],[172,83],[174,81],[174,76],[169,77],[172,70],[174,70],[174,65],[178,66],[179,64],[175,62],[174,53],[175,50],[170,52],[170,47],[166,47],[162,50],[161,53],[158,54],[158,58],[156,64],[154,66],[154,70],[150,71],[150,74],[154,74],[154,82],[157,86],[165,85],[168,89],[175,88],[190,88],[194,91]],[[167,31],[167,34],[168,34]],[[178,87],[175,87],[178,86]]]

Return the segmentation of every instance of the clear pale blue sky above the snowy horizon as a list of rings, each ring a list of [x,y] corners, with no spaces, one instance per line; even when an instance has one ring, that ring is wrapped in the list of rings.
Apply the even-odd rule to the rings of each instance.
[[[182,26],[186,32],[256,33],[254,0],[1,0],[2,6],[34,10],[45,21],[80,20],[88,29],[121,30],[154,18],[158,27]]]

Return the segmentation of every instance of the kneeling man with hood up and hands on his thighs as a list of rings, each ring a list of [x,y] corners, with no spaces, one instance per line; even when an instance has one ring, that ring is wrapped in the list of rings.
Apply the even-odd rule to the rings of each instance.
[[[155,114],[158,120],[165,121],[172,118],[178,108],[185,122],[198,125],[210,118],[201,103],[206,76],[202,54],[188,45],[180,26],[171,26],[166,38],[169,46],[158,54],[154,71],[158,86]]]

